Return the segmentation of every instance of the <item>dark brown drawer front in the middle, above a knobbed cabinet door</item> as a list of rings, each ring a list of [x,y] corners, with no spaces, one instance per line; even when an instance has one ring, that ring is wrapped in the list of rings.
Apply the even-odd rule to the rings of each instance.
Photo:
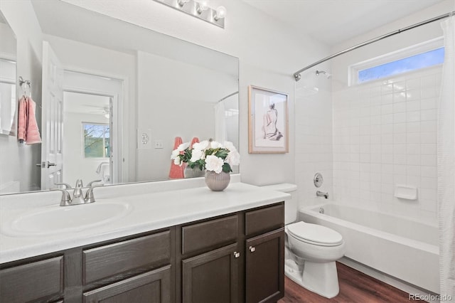
[[[182,254],[235,243],[238,216],[229,216],[182,227]]]

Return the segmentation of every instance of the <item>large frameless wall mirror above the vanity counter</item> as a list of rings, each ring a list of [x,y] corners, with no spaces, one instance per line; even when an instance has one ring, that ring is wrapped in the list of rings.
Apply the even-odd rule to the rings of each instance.
[[[21,192],[77,179],[161,181],[172,179],[179,139],[238,149],[238,58],[64,1],[30,3],[43,34],[35,97],[43,143],[30,167],[41,172],[31,182],[40,186],[4,171],[1,182],[18,182]]]

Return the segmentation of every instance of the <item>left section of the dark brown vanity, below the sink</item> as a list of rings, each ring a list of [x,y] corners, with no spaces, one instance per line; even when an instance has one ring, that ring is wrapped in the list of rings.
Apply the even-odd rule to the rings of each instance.
[[[174,250],[168,228],[2,264],[0,302],[174,302]]]

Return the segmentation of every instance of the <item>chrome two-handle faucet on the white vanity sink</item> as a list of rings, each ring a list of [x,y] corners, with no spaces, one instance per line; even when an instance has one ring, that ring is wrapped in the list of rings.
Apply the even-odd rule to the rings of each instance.
[[[73,190],[73,196],[71,196],[68,189],[72,189],[69,184],[65,183],[56,183],[55,185],[63,185],[65,188],[50,188],[51,191],[61,191],[62,198],[60,199],[60,206],[71,206],[71,205],[79,205],[85,203],[93,203],[95,202],[95,196],[93,195],[93,188],[98,186],[103,186],[103,184],[93,185],[96,182],[101,182],[101,180],[91,181],[87,184],[87,191],[85,191],[85,196],[82,194],[82,189],[85,188],[82,180],[77,179],[76,186]]]

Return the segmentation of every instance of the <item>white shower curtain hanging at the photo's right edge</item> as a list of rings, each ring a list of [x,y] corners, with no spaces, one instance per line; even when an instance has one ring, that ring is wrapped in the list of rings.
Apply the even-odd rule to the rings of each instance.
[[[442,21],[441,27],[445,58],[437,141],[439,280],[441,302],[449,302],[455,299],[455,16]]]

